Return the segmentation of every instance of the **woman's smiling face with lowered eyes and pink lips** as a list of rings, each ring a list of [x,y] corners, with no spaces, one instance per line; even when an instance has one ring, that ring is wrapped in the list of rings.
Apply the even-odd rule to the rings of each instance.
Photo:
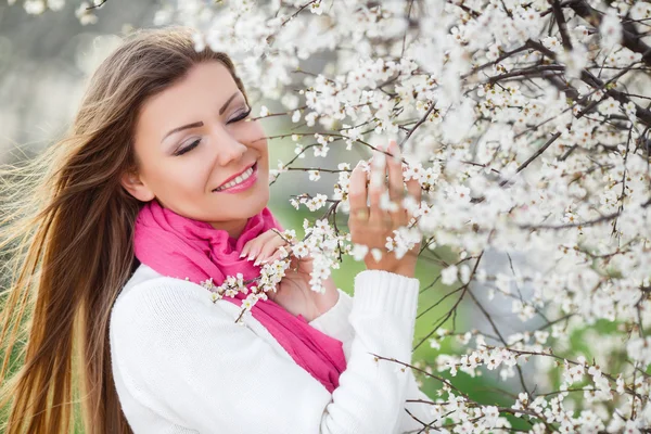
[[[258,122],[244,120],[250,111],[226,66],[194,65],[141,107],[135,133],[139,167],[125,174],[123,186],[140,201],[156,199],[179,215],[239,235],[269,200],[267,140]]]

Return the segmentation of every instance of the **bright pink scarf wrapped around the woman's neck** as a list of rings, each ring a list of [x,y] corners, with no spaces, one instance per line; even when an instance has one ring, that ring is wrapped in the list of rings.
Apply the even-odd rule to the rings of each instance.
[[[228,276],[238,272],[244,280],[259,276],[260,267],[245,257],[240,258],[240,253],[248,240],[271,228],[282,230],[265,207],[248,219],[240,238],[233,239],[226,230],[180,216],[153,200],[140,209],[136,219],[133,250],[138,260],[164,276],[189,278],[197,284],[213,278],[213,283],[220,285]],[[245,297],[239,292],[234,298],[225,296],[224,299],[241,306]],[[301,315],[295,317],[270,299],[257,301],[251,314],[328,392],[337,387],[339,376],[346,369],[341,341],[318,331]]]

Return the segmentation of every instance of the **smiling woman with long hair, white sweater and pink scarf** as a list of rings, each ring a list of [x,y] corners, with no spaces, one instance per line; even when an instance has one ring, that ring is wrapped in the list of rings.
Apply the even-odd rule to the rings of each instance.
[[[98,68],[68,137],[5,174],[24,194],[21,176],[48,170],[28,200],[3,204],[1,246],[16,264],[0,335],[4,432],[67,433],[75,401],[84,432],[102,434],[420,430],[409,412],[431,422],[427,404],[406,403],[427,400],[412,372],[373,356],[411,361],[413,251],[368,255],[354,298],[331,280],[310,291],[302,260],[245,327],[242,293],[214,303],[203,286],[259,275],[283,244],[250,111],[226,54],[195,52],[186,29],[141,31]],[[350,181],[353,241],[371,247],[410,218],[380,208],[381,155],[368,192],[359,165]],[[387,159],[396,200],[401,164]],[[420,197],[416,181],[407,189]],[[24,365],[9,379],[25,312]]]

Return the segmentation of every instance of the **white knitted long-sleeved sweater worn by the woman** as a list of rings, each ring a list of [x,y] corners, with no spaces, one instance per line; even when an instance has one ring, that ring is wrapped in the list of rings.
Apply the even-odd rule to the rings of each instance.
[[[115,385],[136,434],[380,434],[419,432],[431,403],[411,369],[418,279],[366,270],[355,296],[310,324],[344,344],[347,368],[330,394],[250,314],[213,303],[192,282],[141,265],[117,297],[110,339]],[[426,430],[422,431],[427,432]]]

